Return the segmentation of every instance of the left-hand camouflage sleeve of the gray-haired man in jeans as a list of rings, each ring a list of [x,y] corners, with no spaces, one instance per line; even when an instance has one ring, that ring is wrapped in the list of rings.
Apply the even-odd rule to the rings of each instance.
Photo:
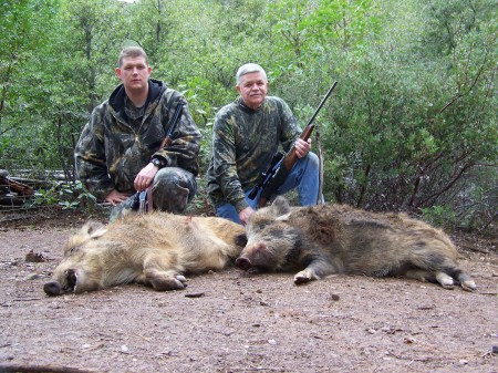
[[[212,162],[214,173],[227,201],[237,211],[248,207],[246,195],[237,175],[236,118],[234,114],[220,113],[215,120],[212,128]]]

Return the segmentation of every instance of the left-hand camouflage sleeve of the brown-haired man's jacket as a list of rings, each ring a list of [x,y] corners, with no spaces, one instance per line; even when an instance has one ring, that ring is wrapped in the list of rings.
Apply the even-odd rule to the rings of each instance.
[[[76,176],[98,200],[104,200],[114,189],[105,162],[103,105],[93,111],[74,149]]]

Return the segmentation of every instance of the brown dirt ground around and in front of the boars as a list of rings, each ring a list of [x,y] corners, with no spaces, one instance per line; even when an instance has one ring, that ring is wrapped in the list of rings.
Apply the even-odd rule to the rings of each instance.
[[[183,291],[51,298],[43,284],[87,216],[0,218],[0,372],[498,372],[496,237],[453,236],[476,292],[229,269]]]

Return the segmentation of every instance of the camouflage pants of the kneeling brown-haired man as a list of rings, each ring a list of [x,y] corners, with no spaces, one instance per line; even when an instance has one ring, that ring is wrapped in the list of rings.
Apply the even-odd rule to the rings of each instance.
[[[157,172],[153,182],[154,209],[179,214],[187,208],[197,191],[196,177],[178,167],[165,167]],[[136,210],[136,195],[115,206],[111,211],[110,220]]]

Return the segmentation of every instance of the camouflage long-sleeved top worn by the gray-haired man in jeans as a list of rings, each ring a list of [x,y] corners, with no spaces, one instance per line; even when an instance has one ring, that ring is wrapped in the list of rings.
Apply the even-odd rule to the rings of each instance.
[[[282,146],[290,149],[301,129],[286,102],[267,96],[253,111],[239,97],[216,115],[212,152],[207,172],[208,194],[215,206],[248,206],[245,190],[258,182]]]

